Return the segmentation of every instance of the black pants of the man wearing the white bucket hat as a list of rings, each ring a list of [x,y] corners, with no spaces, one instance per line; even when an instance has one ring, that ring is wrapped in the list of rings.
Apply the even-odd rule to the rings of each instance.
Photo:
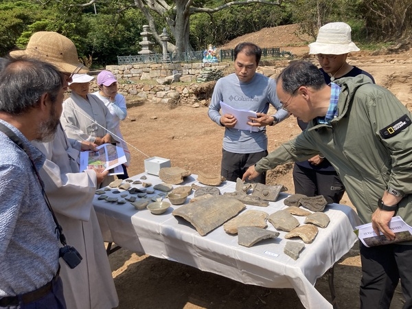
[[[293,167],[295,193],[306,196],[329,196],[339,203],[345,193],[345,186],[336,172],[321,172],[295,164]]]

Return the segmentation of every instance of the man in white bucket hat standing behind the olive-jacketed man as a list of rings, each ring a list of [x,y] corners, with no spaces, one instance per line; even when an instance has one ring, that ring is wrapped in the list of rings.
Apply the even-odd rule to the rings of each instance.
[[[359,51],[352,42],[351,32],[350,25],[346,23],[327,23],[319,28],[316,42],[309,44],[309,54],[314,54],[319,61],[326,84],[360,74],[375,82],[369,73],[347,63],[347,55]],[[297,120],[297,124],[302,130],[308,126],[301,119]],[[334,203],[339,203],[345,193],[345,186],[339,175],[323,155],[296,162],[293,167],[293,183],[297,194],[328,196]]]

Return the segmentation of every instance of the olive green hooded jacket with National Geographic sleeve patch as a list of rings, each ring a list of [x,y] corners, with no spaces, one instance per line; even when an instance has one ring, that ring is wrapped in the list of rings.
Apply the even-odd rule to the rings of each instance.
[[[387,187],[406,194],[398,216],[412,225],[411,112],[390,91],[366,76],[336,80],[338,116],[330,124],[312,119],[295,139],[255,165],[257,172],[323,154],[339,173],[363,223],[371,222]]]

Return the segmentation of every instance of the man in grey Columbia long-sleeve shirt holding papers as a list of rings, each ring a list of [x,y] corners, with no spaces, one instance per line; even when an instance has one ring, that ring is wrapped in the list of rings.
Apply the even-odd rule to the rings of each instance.
[[[235,47],[234,56],[235,73],[216,82],[208,111],[211,120],[225,127],[220,174],[228,181],[241,178],[249,166],[267,155],[266,126],[288,117],[277,98],[275,80],[256,73],[262,49],[253,43],[240,43]],[[258,130],[235,128],[238,119],[229,113],[220,115],[220,102],[238,110],[256,112],[257,117],[249,117],[247,124]],[[274,115],[267,115],[269,104],[277,109]],[[266,183],[266,174],[255,181]]]

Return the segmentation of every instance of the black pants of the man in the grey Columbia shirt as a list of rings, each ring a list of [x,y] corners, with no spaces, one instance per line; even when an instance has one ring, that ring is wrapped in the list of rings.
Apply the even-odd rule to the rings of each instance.
[[[236,182],[236,179],[242,179],[249,166],[255,165],[256,162],[267,155],[267,150],[255,153],[233,153],[222,149],[220,174],[228,181]],[[253,179],[253,182],[266,184],[266,172]]]

